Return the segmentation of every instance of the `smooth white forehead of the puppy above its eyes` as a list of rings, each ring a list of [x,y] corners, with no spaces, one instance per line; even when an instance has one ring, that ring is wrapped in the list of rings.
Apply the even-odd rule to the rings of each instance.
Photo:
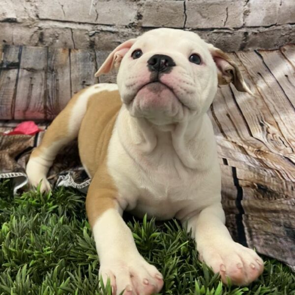
[[[133,49],[139,48],[148,51],[181,53],[199,52],[208,53],[207,43],[196,33],[181,29],[153,29],[137,38],[132,46]]]

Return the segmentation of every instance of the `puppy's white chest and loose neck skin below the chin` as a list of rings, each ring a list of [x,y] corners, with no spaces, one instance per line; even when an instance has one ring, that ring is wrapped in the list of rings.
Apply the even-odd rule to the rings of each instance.
[[[216,145],[206,116],[198,122],[201,132],[192,137],[135,122],[122,110],[109,146],[108,167],[123,209],[139,216],[182,219],[220,199]],[[178,139],[180,151],[175,148]]]

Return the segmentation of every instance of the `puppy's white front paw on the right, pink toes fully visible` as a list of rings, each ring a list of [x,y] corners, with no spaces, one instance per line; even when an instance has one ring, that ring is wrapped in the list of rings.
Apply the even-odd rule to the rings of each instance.
[[[248,285],[263,273],[263,260],[252,249],[234,241],[202,246],[198,250],[201,260],[215,273],[219,272],[225,284],[229,276],[235,285]]]

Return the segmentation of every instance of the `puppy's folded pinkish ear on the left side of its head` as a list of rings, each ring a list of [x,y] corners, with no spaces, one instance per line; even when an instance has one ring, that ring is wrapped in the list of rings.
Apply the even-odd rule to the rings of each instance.
[[[115,48],[95,73],[95,77],[109,73],[114,67],[117,68],[124,55],[129,51],[135,41],[136,39],[127,40]]]

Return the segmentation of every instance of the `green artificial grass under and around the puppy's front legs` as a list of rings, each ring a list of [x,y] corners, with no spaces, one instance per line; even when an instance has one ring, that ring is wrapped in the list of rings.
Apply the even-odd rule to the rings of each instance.
[[[10,181],[0,182],[0,294],[111,294],[99,285],[84,204],[85,196],[72,189],[13,197]],[[276,260],[263,257],[265,271],[250,286],[226,287],[198,261],[177,221],[129,219],[140,253],[164,275],[160,294],[295,295],[294,274]]]

